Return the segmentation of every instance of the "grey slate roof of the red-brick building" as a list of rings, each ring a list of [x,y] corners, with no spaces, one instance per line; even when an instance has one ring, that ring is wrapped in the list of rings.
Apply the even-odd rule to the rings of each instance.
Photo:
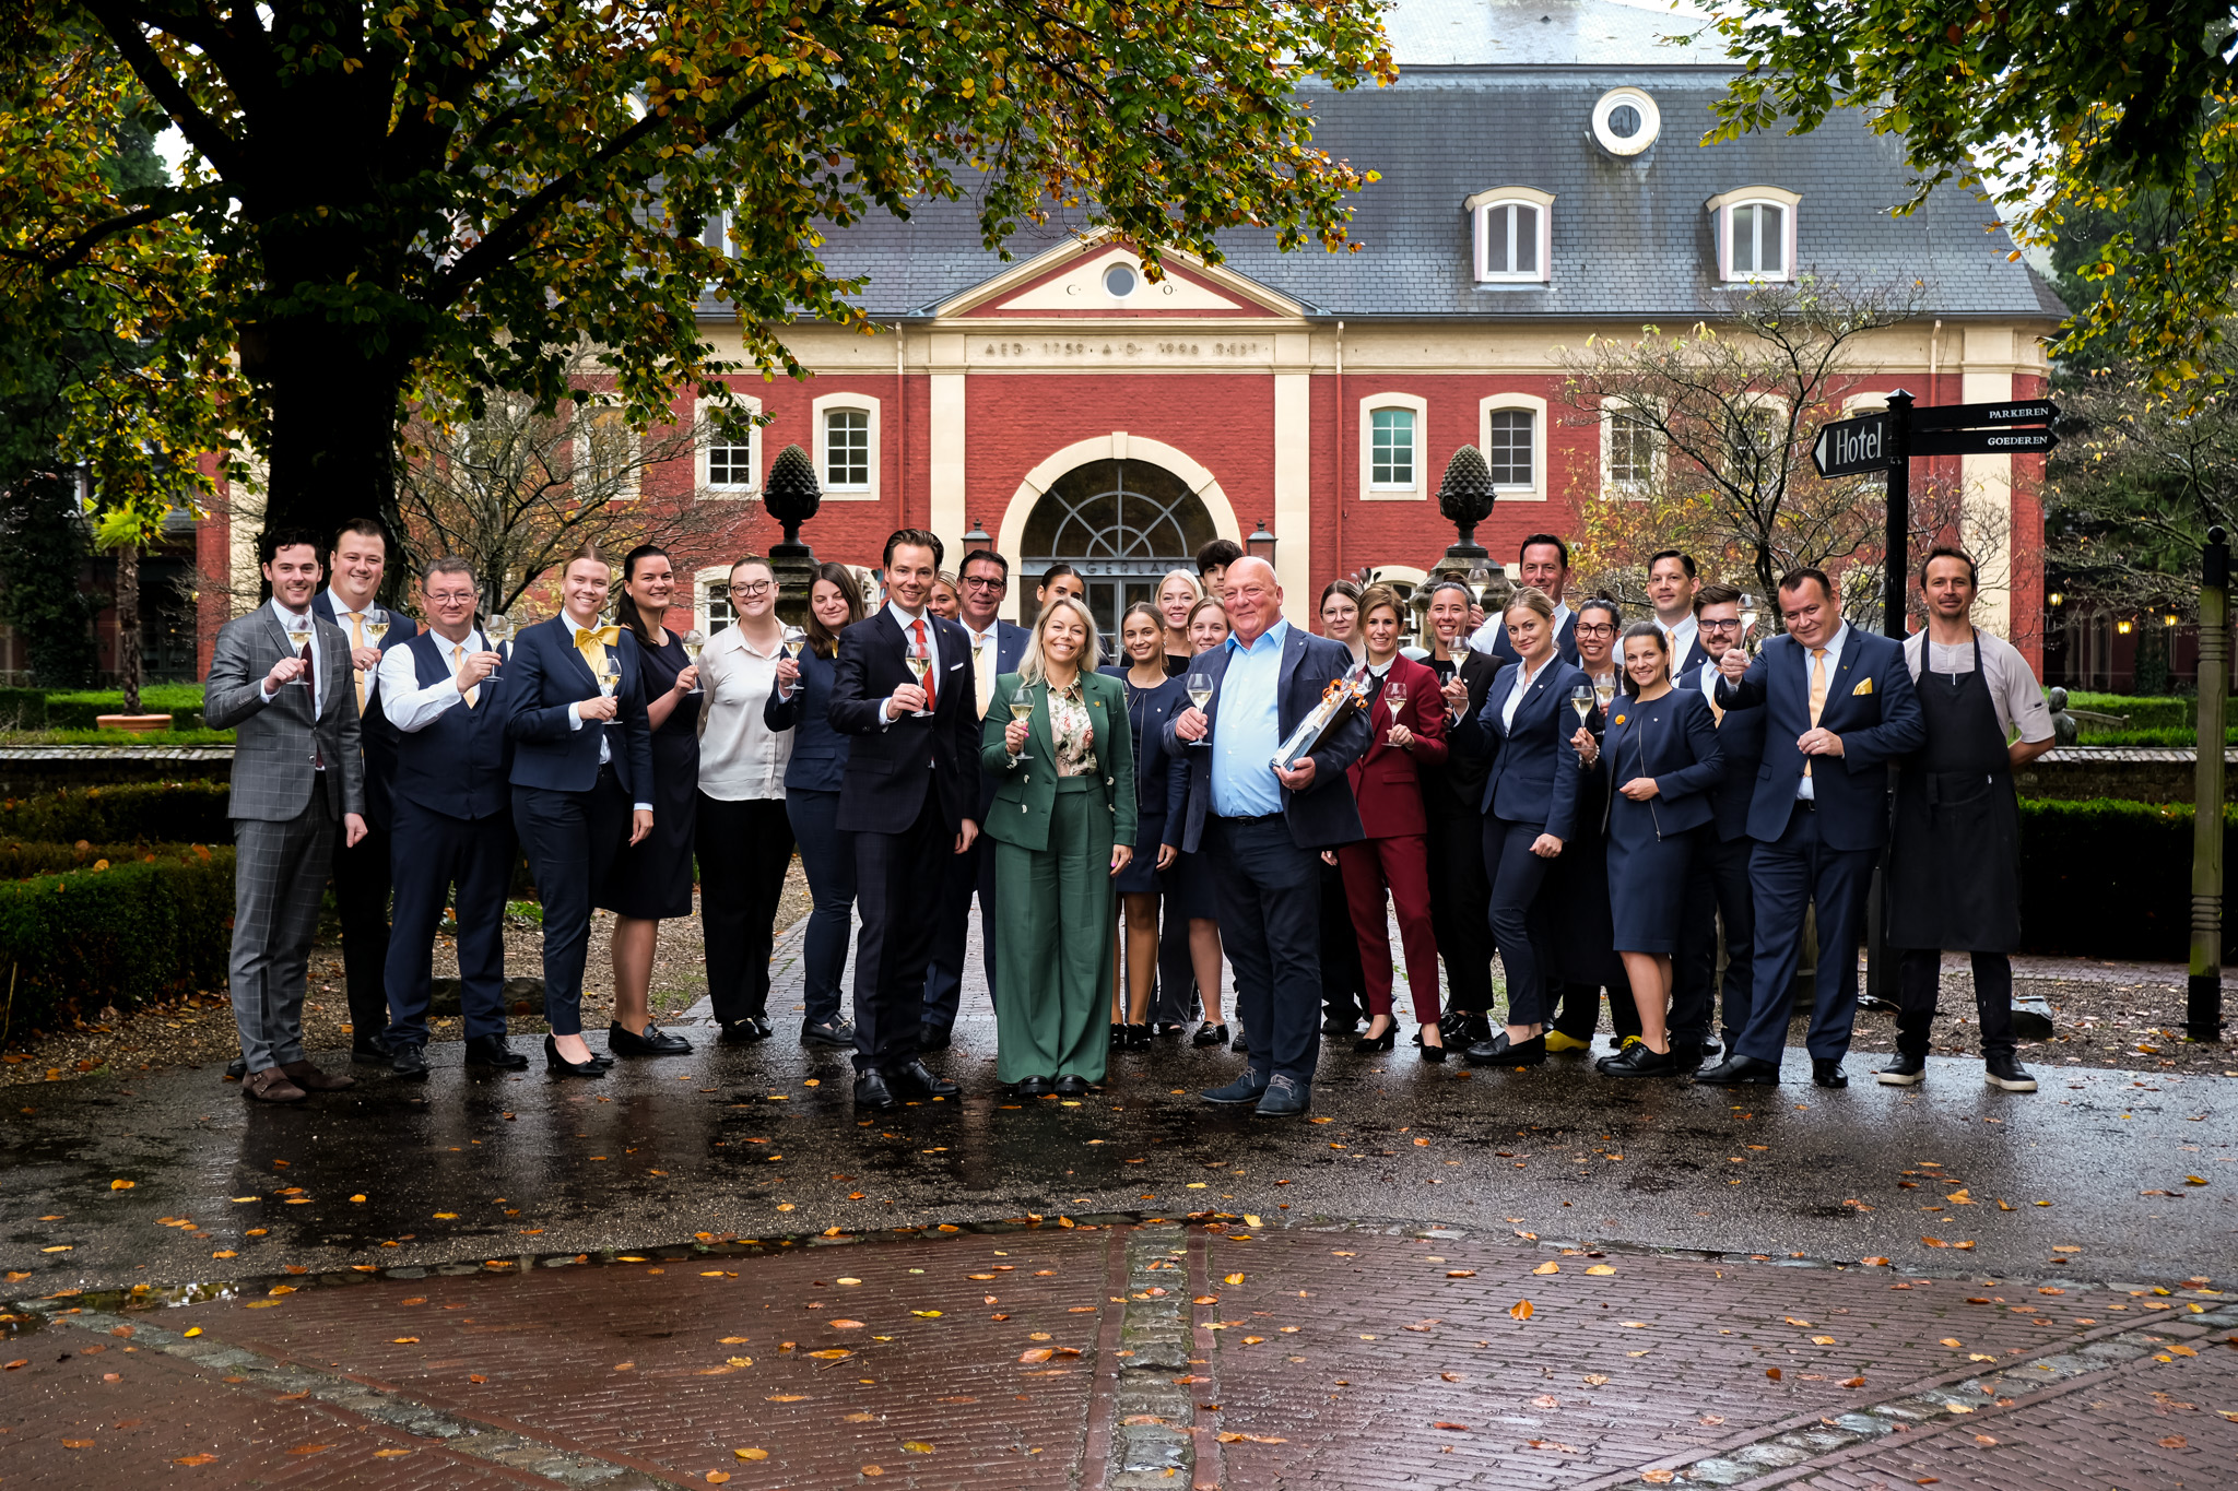
[[[1804,270],[1858,286],[1920,279],[1925,313],[1940,317],[2061,313],[2030,268],[2007,259],[2010,235],[1972,190],[1945,186],[1918,212],[1893,217],[1909,194],[1902,154],[1862,114],[1835,114],[1813,134],[1703,148],[1732,69],[1714,45],[1656,40],[1683,25],[1609,0],[1405,0],[1390,18],[1399,83],[1314,96],[1316,143],[1381,172],[1356,199],[1361,253],[1285,255],[1269,232],[1233,232],[1222,237],[1229,268],[1316,320],[1717,315],[1725,286],[1703,203],[1739,186],[1779,186],[1802,192]],[[1410,49],[1452,60],[1410,63]],[[1663,114],[1661,136],[1634,159],[1591,139],[1593,103],[1620,85],[1643,87]],[[1461,203],[1493,186],[1555,194],[1549,284],[1470,279]],[[1014,237],[1009,250],[1027,259],[1065,239],[1052,224]],[[1007,268],[980,248],[969,201],[833,230],[824,257],[839,275],[871,275],[862,304],[880,320],[924,317]]]

